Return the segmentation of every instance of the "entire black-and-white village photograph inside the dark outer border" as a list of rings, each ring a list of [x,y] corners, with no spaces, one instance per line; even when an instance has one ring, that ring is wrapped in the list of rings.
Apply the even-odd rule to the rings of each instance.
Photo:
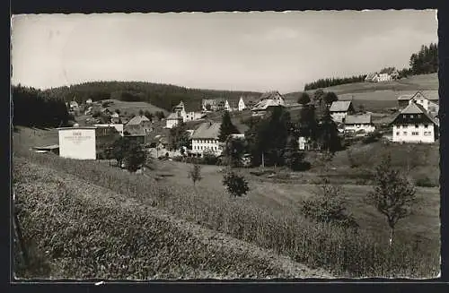
[[[11,20],[12,274],[440,276],[436,10]]]

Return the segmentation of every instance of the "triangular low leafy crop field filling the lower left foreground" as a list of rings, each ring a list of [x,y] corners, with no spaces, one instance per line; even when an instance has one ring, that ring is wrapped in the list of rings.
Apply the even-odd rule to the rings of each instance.
[[[17,161],[17,160],[16,160]],[[22,278],[324,277],[57,171],[15,163],[14,190],[31,266]],[[17,166],[19,165],[19,166]],[[49,172],[45,172],[49,171]],[[231,240],[230,240],[231,239]],[[46,270],[43,270],[46,269]]]

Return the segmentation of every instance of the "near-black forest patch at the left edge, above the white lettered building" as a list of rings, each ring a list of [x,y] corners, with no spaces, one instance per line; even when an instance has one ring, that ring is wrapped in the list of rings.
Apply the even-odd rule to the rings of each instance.
[[[69,121],[66,103],[45,90],[22,87],[12,88],[13,125],[36,127],[65,126]]]

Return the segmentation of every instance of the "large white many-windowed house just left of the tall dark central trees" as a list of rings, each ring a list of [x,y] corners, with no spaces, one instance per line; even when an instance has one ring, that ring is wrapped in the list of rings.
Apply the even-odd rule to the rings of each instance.
[[[218,141],[221,123],[205,122],[198,126],[191,136],[192,153],[202,156],[210,151],[216,156],[221,155],[223,143]]]

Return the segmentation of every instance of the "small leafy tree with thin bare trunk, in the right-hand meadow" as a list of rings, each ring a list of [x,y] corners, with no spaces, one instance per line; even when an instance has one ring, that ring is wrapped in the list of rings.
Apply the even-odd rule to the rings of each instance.
[[[374,192],[367,194],[366,202],[386,217],[390,227],[389,245],[392,246],[394,228],[399,220],[409,216],[411,204],[416,201],[416,189],[392,168],[390,155],[375,168],[374,182]]]

